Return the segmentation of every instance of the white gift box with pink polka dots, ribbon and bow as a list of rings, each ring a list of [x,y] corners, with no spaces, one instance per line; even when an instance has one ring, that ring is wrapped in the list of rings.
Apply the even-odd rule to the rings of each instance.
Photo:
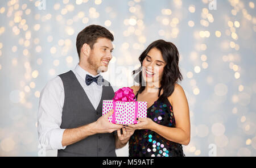
[[[138,102],[133,89],[123,87],[115,92],[112,100],[103,100],[102,115],[114,110],[109,121],[114,124],[137,124],[136,118],[147,117],[147,102]]]

